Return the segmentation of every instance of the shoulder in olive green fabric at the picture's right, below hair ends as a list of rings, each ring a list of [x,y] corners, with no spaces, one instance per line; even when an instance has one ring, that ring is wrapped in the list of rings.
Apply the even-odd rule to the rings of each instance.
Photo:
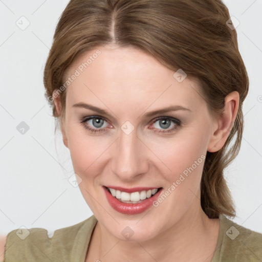
[[[261,261],[262,234],[245,228],[220,215],[220,239],[217,245],[218,261]]]

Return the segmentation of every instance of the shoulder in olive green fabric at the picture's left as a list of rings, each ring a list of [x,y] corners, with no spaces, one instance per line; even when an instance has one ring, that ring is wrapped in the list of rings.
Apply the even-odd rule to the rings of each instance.
[[[55,230],[52,237],[44,228],[19,228],[7,235],[4,262],[9,261],[67,261],[74,252],[80,255],[89,242],[97,220],[94,215],[65,228]]]

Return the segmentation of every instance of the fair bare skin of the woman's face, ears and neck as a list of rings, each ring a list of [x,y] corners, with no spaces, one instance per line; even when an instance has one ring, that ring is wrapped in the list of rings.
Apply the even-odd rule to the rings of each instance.
[[[223,147],[237,114],[238,93],[230,93],[223,114],[212,119],[196,79],[178,82],[175,71],[154,57],[115,45],[82,54],[71,64],[68,77],[97,49],[101,54],[68,86],[61,119],[63,143],[70,150],[79,188],[98,220],[85,261],[211,261],[219,219],[209,219],[200,205],[204,161],[158,207],[136,215],[114,210],[102,185],[167,190],[195,160]],[[59,99],[55,98],[55,105],[60,114]],[[107,110],[109,115],[73,107],[79,102]],[[191,112],[143,116],[170,105]],[[96,134],[86,130],[80,123],[86,116],[104,117],[105,130]],[[152,123],[157,117],[179,119],[181,126],[158,133],[165,129],[160,121]],[[135,128],[129,135],[121,130],[126,121]],[[92,120],[88,124],[97,128]],[[171,122],[167,129],[174,125]],[[134,231],[129,239],[121,234],[126,226]]]

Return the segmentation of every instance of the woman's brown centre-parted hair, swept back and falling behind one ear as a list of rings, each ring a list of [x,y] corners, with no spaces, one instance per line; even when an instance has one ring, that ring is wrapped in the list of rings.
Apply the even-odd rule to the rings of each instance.
[[[201,180],[201,207],[207,216],[234,217],[234,203],[223,172],[241,147],[242,105],[249,79],[238,51],[236,31],[226,25],[228,19],[228,8],[221,0],[71,0],[58,21],[44,72],[45,96],[56,124],[62,123],[67,89],[60,92],[60,116],[53,91],[65,83],[76,57],[107,43],[139,48],[169,69],[181,68],[198,79],[213,117],[223,112],[226,95],[237,91],[239,107],[231,132],[223,148],[207,152]]]

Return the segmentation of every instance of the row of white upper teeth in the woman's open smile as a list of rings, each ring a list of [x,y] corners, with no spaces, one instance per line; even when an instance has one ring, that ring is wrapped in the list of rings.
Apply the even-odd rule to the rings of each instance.
[[[109,188],[111,194],[113,197],[116,197],[118,200],[125,202],[125,203],[139,203],[141,200],[145,200],[146,198],[150,198],[152,195],[154,195],[158,188],[150,189],[148,191],[141,191],[141,192],[133,192],[133,193],[127,193],[127,192],[121,192],[120,190],[116,190],[114,188]]]

